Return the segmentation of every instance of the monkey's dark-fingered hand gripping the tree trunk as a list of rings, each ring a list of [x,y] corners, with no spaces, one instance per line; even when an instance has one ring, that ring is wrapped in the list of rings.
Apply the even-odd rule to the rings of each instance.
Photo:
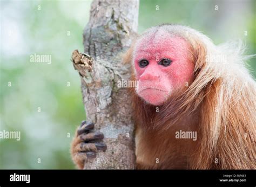
[[[98,150],[106,150],[106,144],[98,142],[104,138],[103,133],[93,132],[93,128],[92,122],[82,121],[72,141],[71,156],[79,169],[84,168],[87,159],[95,158]]]

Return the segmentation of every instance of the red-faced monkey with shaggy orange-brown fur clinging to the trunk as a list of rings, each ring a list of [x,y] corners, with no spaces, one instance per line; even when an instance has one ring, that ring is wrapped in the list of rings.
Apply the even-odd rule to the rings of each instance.
[[[252,56],[244,50],[241,42],[214,45],[175,24],[136,38],[123,61],[137,82],[129,88],[137,169],[256,168],[256,84],[245,66]],[[88,126],[78,128],[71,148],[78,168],[106,149],[87,141],[104,138]]]

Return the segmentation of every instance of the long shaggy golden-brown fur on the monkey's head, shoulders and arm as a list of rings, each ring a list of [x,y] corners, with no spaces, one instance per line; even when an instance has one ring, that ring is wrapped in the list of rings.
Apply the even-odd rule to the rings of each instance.
[[[245,61],[250,58],[243,55],[245,46],[239,42],[217,46],[204,34],[181,25],[153,27],[137,42],[159,29],[184,38],[191,45],[194,81],[185,90],[177,89],[159,106],[159,112],[156,106],[139,98],[132,88],[137,129],[149,131],[147,134],[154,131],[156,136],[174,128],[180,119],[192,116],[200,136],[187,158],[186,168],[255,169],[256,84],[245,67]],[[125,61],[133,63],[133,49],[131,47]],[[136,80],[132,71],[132,80]],[[140,136],[136,132],[137,135]],[[165,136],[169,135],[165,133]],[[214,162],[215,158],[218,163]],[[165,164],[171,167],[170,163]]]

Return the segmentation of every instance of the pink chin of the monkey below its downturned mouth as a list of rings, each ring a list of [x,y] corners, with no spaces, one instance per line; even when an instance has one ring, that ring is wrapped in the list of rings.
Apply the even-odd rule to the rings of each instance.
[[[145,100],[147,103],[150,103],[154,106],[161,106],[164,104],[168,92],[165,91],[158,91],[158,90],[152,90],[152,89],[145,89],[141,92],[139,92],[139,96]]]

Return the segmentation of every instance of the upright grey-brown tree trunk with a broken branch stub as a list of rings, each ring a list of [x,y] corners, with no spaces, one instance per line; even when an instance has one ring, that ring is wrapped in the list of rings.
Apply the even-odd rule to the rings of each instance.
[[[130,78],[122,56],[137,34],[138,9],[139,0],[93,1],[83,34],[89,56],[78,51],[72,55],[81,76],[86,120],[95,122],[107,145],[96,159],[86,161],[84,169],[135,167],[131,99],[118,82]]]

